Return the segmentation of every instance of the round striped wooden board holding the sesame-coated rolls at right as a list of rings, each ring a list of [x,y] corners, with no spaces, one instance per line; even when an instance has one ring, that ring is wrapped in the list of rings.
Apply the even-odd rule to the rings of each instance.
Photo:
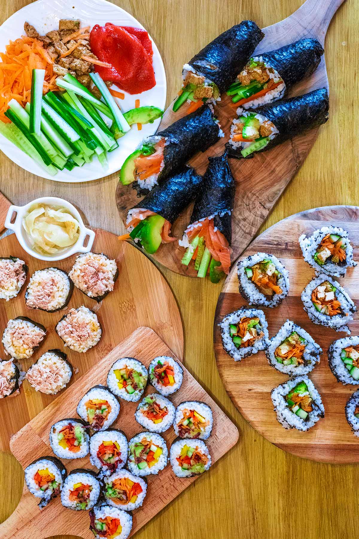
[[[304,262],[299,247],[300,234],[311,234],[328,223],[335,223],[348,230],[354,247],[354,259],[359,259],[359,207],[328,206],[297,213],[273,225],[254,240],[242,258],[258,251],[276,255],[289,271],[290,292],[281,305],[274,309],[263,308],[268,321],[269,336],[277,333],[287,320],[293,320],[313,336],[323,349],[320,364],[309,373],[318,389],[325,407],[325,418],[308,432],[286,430],[277,421],[270,398],[271,390],[285,382],[288,376],[270,367],[264,352],[235,362],[223,350],[217,324],[223,316],[248,305],[238,292],[236,265],[231,270],[217,303],[214,321],[214,350],[222,382],[234,405],[250,425],[272,444],[281,449],[321,462],[351,464],[359,462],[359,439],[351,432],[344,414],[344,406],[357,386],[342,385],[336,381],[328,367],[327,350],[337,338],[346,336],[332,329],[316,326],[303,310],[300,294],[314,275],[314,270]],[[359,306],[359,268],[349,268],[339,282]],[[260,307],[261,308],[261,307]],[[352,335],[359,334],[358,315],[349,323]]]

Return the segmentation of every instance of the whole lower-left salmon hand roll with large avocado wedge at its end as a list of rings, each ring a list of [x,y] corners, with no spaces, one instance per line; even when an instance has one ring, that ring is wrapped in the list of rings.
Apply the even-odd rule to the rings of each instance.
[[[130,238],[147,253],[156,253],[161,243],[171,243],[171,226],[182,210],[196,197],[203,181],[192,167],[170,176],[129,210],[126,227]],[[123,238],[127,238],[125,234]]]

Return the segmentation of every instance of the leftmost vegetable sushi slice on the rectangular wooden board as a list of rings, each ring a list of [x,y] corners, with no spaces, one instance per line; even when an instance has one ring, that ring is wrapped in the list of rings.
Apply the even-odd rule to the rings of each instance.
[[[26,466],[26,486],[31,494],[40,498],[41,509],[60,494],[66,475],[65,466],[54,457],[41,457]]]

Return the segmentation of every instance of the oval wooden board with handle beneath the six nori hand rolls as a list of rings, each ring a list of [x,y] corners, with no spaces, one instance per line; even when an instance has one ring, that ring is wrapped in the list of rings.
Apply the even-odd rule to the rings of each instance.
[[[317,38],[324,44],[329,22],[343,1],[307,0],[290,17],[263,29],[265,37],[258,45],[257,52],[277,49],[305,37]],[[245,13],[238,15],[238,21],[242,17],[245,18]],[[329,89],[323,55],[320,65],[312,77],[292,88],[288,96],[301,95],[324,86]],[[174,113],[171,103],[158,129],[161,130],[184,116],[186,107],[188,105],[184,105],[177,113]],[[208,156],[223,153],[224,144],[229,139],[231,121],[236,116],[236,108],[227,94],[222,96],[222,100],[215,107],[215,114],[220,120],[225,136],[215,146],[210,147],[204,153],[196,154],[189,161],[199,174],[205,172],[208,165]],[[322,129],[325,129],[325,127],[322,127]],[[305,160],[317,135],[318,128],[280,144],[280,146],[270,151],[258,154],[253,159],[229,160],[231,171],[236,180],[236,197],[232,212],[232,260],[235,260],[255,237],[259,227],[268,217],[274,204],[276,204],[295,172]],[[124,224],[128,210],[136,205],[138,201],[137,193],[131,189],[131,186],[118,183],[116,203]],[[191,216],[192,206],[191,204],[173,224],[173,236],[182,237]],[[176,273],[196,277],[197,273],[193,264],[188,267],[181,264],[183,254],[183,248],[179,247],[177,241],[174,241],[171,244],[161,246],[157,253],[152,256]]]

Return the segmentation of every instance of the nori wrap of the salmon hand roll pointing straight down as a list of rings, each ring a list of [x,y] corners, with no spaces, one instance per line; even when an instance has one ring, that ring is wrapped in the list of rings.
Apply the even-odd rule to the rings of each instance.
[[[227,161],[227,152],[220,157],[208,157],[208,167],[203,176],[201,192],[194,204],[190,224],[215,215],[214,226],[222,232],[229,245],[232,240],[231,215],[233,210],[235,181]],[[224,215],[220,216],[221,213]]]

